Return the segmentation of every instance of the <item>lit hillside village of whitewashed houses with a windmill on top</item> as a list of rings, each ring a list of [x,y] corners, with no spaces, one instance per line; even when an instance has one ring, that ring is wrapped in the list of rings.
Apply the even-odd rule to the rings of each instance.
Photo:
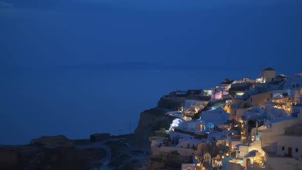
[[[188,157],[182,170],[302,169],[302,74],[269,67],[260,77],[163,96],[158,107],[175,119],[152,139],[151,159]],[[160,167],[154,162],[149,169]]]

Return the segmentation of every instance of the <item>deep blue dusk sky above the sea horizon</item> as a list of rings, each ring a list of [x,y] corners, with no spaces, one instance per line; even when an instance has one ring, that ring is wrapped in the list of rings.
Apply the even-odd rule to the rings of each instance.
[[[118,62],[301,71],[302,1],[1,0],[0,65]]]

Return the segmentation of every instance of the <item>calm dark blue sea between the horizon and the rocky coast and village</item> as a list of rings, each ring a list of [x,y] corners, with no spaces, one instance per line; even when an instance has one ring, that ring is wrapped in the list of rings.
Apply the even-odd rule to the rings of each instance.
[[[236,76],[234,77],[233,75]],[[51,70],[2,76],[0,143],[26,144],[41,135],[71,139],[135,129],[140,112],[175,90],[204,89],[253,71]]]

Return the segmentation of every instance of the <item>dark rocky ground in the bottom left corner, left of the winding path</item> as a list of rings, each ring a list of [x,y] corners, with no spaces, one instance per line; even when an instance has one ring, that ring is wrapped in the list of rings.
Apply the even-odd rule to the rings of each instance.
[[[105,155],[100,148],[76,150],[72,147],[2,146],[0,169],[91,169],[100,167],[99,160]]]

